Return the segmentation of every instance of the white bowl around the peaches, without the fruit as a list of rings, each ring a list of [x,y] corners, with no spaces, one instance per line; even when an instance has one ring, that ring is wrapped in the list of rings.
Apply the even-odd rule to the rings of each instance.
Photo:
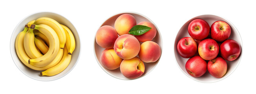
[[[115,20],[122,14],[126,14],[126,13],[120,13],[120,14],[116,14],[112,17],[110,17],[108,20],[106,20],[101,26],[103,25],[110,25],[112,27],[114,27],[114,23],[115,23]],[[147,18],[146,16],[142,15],[142,14],[139,14],[139,13],[134,13],[134,12],[127,12],[127,14],[131,14],[132,16],[135,17],[136,19],[136,22],[137,24],[139,22],[142,22],[142,21],[148,21],[148,22],[151,22],[152,24],[154,24],[154,22],[152,22],[149,18]],[[155,25],[155,24],[154,24]],[[159,32],[159,29],[157,28],[157,26],[155,25],[156,29],[157,29],[157,34],[155,36],[155,38],[152,40],[153,42],[156,42],[160,47],[161,47],[161,53],[163,51],[163,40],[162,40],[162,37],[161,37],[161,34]],[[95,33],[96,35],[96,33]],[[94,40],[94,44],[93,44],[93,48],[94,48],[94,55],[95,55],[95,58],[98,62],[98,64],[100,65],[100,67],[106,72],[108,73],[110,76],[113,76],[115,78],[118,78],[118,79],[121,79],[121,80],[133,80],[133,79],[129,79],[129,78],[126,78],[123,76],[123,74],[121,73],[120,71],[120,68],[118,69],[115,69],[115,70],[108,70],[106,68],[104,68],[102,65],[101,65],[101,62],[100,62],[100,57],[101,57],[101,53],[102,51],[104,50],[104,48],[100,47],[97,43],[96,43],[96,40]],[[161,56],[160,56],[161,58]],[[144,63],[145,65],[145,72],[144,74],[141,76],[145,76],[146,74],[148,74],[149,72],[151,72],[155,66],[157,65],[157,63],[159,62],[160,58],[155,61],[155,62],[152,62],[152,63]],[[139,78],[141,78],[139,77]]]

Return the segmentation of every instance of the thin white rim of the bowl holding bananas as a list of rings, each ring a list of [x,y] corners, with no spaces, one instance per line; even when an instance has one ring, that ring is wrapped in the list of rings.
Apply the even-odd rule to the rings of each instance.
[[[13,34],[15,33],[15,31],[16,31],[17,27],[19,26],[19,24],[20,24],[23,20],[25,20],[25,19],[28,18],[29,16],[32,16],[32,15],[38,14],[38,13],[52,13],[52,14],[57,14],[57,15],[59,15],[59,16],[62,16],[61,14],[58,14],[58,13],[55,13],[55,12],[51,12],[51,11],[38,11],[38,12],[35,12],[35,13],[31,13],[31,14],[27,15],[26,17],[24,17],[22,20],[20,20],[20,22],[16,25],[15,29],[13,30],[13,33],[11,34],[11,40],[10,40],[10,53],[11,53],[11,57],[12,57],[12,59],[13,59],[13,62],[14,62],[15,65],[16,65],[16,67],[20,70],[20,72],[22,72],[24,75],[26,75],[26,76],[29,77],[29,78],[32,78],[32,77],[29,76],[29,75],[27,75],[27,74],[25,74],[25,73],[20,69],[20,67],[18,67],[18,65],[16,64],[16,61],[14,60],[15,58],[13,57],[13,54],[12,54],[12,46],[11,46],[11,44],[12,44],[12,41],[13,41],[13,40],[16,40],[16,38],[12,38],[12,36],[13,36]],[[62,16],[62,17],[65,18],[66,20],[68,20],[65,16]],[[71,25],[73,25],[70,20],[68,20],[68,21],[71,23]],[[75,25],[73,25],[73,27],[75,28]],[[76,29],[76,28],[75,28],[75,31],[77,32],[77,29]],[[77,35],[78,35],[79,44],[80,44],[80,51],[78,51],[79,54],[78,54],[78,57],[77,57],[77,60],[76,60],[76,62],[75,62],[75,64],[74,64],[74,66],[73,66],[66,74],[64,74],[63,76],[61,76],[61,77],[59,77],[59,78],[55,78],[55,79],[52,79],[52,80],[39,80],[39,79],[35,79],[35,78],[32,78],[32,79],[33,79],[33,80],[37,80],[37,81],[54,81],[54,80],[58,80],[58,79],[60,79],[60,78],[62,78],[62,77],[64,77],[64,76],[66,76],[69,72],[71,72],[71,71],[73,70],[73,68],[77,65],[77,63],[78,63],[78,61],[79,61],[79,58],[80,58],[81,50],[82,50],[82,48],[81,48],[81,43],[80,43],[79,32],[77,32]],[[77,45],[76,45],[76,46],[77,46]],[[16,51],[15,51],[15,53],[16,53]],[[15,54],[15,55],[16,55],[16,54]],[[18,57],[18,56],[17,56],[17,57]],[[22,62],[20,61],[20,63],[22,63]],[[23,63],[22,63],[22,64],[23,64]],[[24,65],[24,64],[23,64],[23,65]],[[25,67],[27,67],[27,66],[25,65]],[[30,69],[30,68],[29,68],[29,69]],[[50,76],[50,77],[51,77],[51,76]]]

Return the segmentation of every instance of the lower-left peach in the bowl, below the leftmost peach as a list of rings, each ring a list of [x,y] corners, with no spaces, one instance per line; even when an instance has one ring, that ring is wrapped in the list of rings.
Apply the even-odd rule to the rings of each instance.
[[[122,58],[117,56],[114,49],[105,49],[101,53],[101,64],[103,67],[109,70],[114,70],[120,67],[121,62],[123,61]]]

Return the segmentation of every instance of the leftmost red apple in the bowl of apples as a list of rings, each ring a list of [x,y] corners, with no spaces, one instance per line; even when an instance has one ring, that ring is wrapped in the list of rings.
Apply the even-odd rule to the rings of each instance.
[[[177,51],[183,58],[190,58],[197,52],[197,43],[191,37],[184,37],[177,44]]]

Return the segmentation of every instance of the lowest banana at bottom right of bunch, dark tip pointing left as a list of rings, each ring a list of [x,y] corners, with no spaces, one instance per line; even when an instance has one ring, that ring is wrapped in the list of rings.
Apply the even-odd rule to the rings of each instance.
[[[68,49],[65,45],[64,54],[63,54],[63,57],[60,60],[60,62],[57,65],[55,65],[54,67],[51,67],[51,68],[47,69],[46,71],[40,72],[40,75],[41,76],[57,75],[60,72],[64,71],[68,67],[70,60],[71,60],[71,55],[68,54]]]

